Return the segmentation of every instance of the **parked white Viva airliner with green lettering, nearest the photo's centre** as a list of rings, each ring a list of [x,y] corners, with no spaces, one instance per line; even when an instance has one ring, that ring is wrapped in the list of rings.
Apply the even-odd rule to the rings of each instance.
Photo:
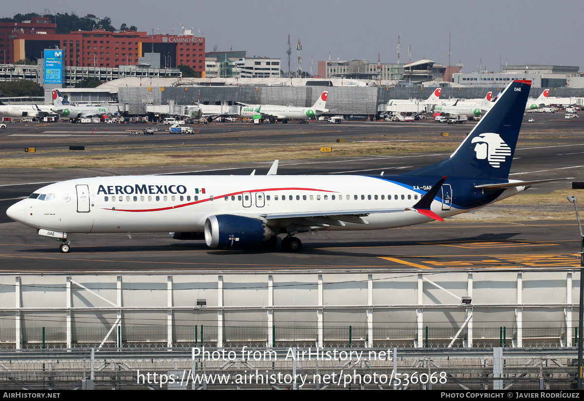
[[[255,119],[269,119],[270,123],[276,120],[286,124],[290,119],[306,119],[317,117],[329,110],[325,108],[326,98],[328,92],[322,92],[318,100],[312,107],[292,107],[292,106],[277,106],[270,104],[245,104],[241,103],[241,111],[237,117],[245,117]],[[254,121],[255,122],[255,121]]]

